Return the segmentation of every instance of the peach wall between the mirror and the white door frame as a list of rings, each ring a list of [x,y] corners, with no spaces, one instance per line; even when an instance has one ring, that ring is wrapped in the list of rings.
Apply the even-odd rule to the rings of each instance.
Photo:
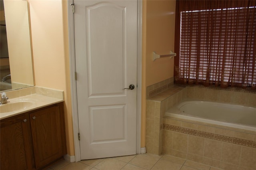
[[[35,85],[64,91],[67,150],[74,156],[67,2],[28,0]]]

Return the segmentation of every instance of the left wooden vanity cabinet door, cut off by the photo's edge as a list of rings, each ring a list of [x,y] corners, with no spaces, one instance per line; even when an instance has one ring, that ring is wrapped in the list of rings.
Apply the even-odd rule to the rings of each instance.
[[[1,169],[32,168],[28,115],[1,120]]]

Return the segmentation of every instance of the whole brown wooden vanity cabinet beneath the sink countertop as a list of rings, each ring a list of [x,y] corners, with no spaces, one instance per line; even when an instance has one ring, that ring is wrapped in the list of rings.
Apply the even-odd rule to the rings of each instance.
[[[41,169],[66,154],[63,102],[1,120],[2,170]]]

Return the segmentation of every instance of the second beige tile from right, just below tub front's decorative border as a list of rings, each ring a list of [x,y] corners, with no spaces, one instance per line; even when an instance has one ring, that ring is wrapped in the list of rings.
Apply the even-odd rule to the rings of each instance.
[[[242,146],[223,142],[221,160],[223,162],[239,165],[241,147]]]

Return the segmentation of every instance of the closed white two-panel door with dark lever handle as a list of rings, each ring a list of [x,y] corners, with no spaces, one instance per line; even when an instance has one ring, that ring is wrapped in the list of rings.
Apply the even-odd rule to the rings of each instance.
[[[137,1],[74,4],[81,160],[136,154]]]

